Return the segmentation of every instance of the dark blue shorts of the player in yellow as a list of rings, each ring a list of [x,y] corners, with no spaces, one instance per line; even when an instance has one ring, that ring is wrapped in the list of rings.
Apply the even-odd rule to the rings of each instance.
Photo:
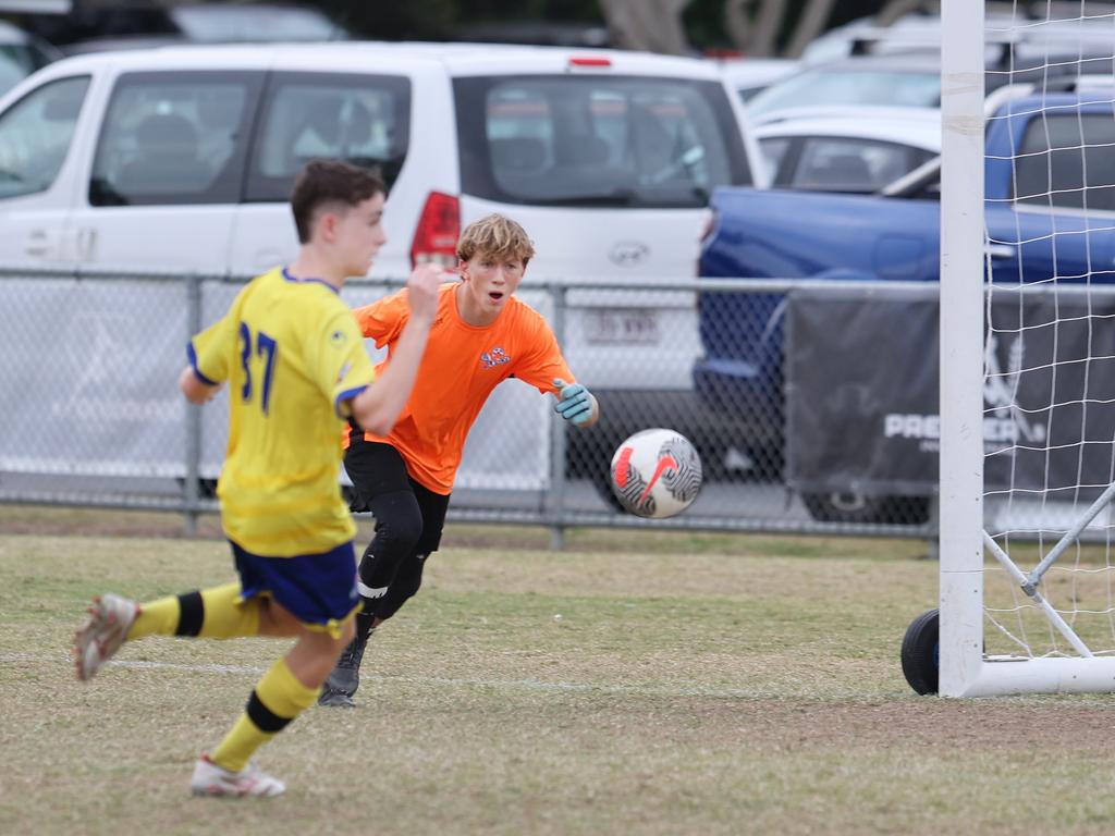
[[[240,596],[270,595],[303,624],[334,638],[340,625],[360,609],[352,542],[321,554],[261,557],[231,539],[240,573]]]

